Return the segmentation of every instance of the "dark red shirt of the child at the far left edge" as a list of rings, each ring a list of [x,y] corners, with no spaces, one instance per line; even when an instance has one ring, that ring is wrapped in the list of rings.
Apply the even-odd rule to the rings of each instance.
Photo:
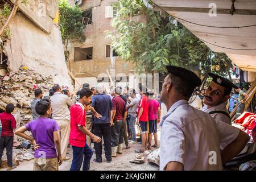
[[[11,113],[0,113],[0,120],[2,122],[1,137],[13,137],[13,130],[16,129],[16,120]]]

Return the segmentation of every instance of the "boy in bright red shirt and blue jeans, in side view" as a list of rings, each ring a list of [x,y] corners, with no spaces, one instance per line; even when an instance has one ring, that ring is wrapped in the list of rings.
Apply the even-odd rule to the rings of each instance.
[[[69,134],[69,143],[73,149],[73,159],[70,171],[79,171],[82,166],[82,171],[88,171],[90,167],[90,159],[93,151],[86,143],[86,135],[88,135],[96,143],[101,142],[101,138],[90,133],[86,129],[86,113],[84,105],[88,105],[92,99],[92,90],[83,88],[80,90],[80,100],[71,106],[71,131]]]

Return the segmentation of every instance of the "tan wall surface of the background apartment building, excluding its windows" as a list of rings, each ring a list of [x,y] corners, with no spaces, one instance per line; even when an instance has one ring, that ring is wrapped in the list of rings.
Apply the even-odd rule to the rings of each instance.
[[[113,34],[116,34],[116,32],[111,25],[113,18],[105,18],[105,7],[110,6],[112,2],[115,2],[115,0],[104,0],[101,2],[98,0],[86,0],[80,6],[82,10],[93,7],[93,23],[85,28],[86,40],[84,43],[69,45],[71,71],[75,77],[97,77],[100,73],[106,73],[106,69],[110,70],[111,61],[110,57],[106,57],[106,45],[109,45],[111,40],[106,39],[105,31],[112,31]],[[74,61],[75,47],[93,47],[93,59]],[[134,69],[134,65],[131,63],[127,63],[121,59],[116,59],[115,61],[115,73],[125,73],[128,76],[129,73],[134,72]],[[86,79],[80,80],[84,82]]]

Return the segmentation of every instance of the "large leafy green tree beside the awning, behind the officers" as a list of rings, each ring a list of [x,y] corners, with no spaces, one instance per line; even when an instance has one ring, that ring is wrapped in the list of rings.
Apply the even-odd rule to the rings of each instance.
[[[212,65],[220,64],[217,73],[230,75],[228,57],[210,51],[170,15],[147,9],[142,0],[120,0],[113,6],[119,9],[112,25],[118,36],[106,34],[119,57],[134,63],[137,71],[162,73],[165,65],[179,65],[206,75],[206,81]]]

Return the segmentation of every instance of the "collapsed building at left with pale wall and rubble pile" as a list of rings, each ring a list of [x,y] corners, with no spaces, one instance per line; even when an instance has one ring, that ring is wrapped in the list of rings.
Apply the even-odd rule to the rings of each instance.
[[[0,1],[0,6],[14,3]],[[57,11],[58,0],[30,0],[26,5],[19,1],[10,36],[2,38],[0,112],[13,103],[17,127],[32,119],[30,102],[36,88],[48,96],[55,83],[71,85],[59,26],[54,23]]]

